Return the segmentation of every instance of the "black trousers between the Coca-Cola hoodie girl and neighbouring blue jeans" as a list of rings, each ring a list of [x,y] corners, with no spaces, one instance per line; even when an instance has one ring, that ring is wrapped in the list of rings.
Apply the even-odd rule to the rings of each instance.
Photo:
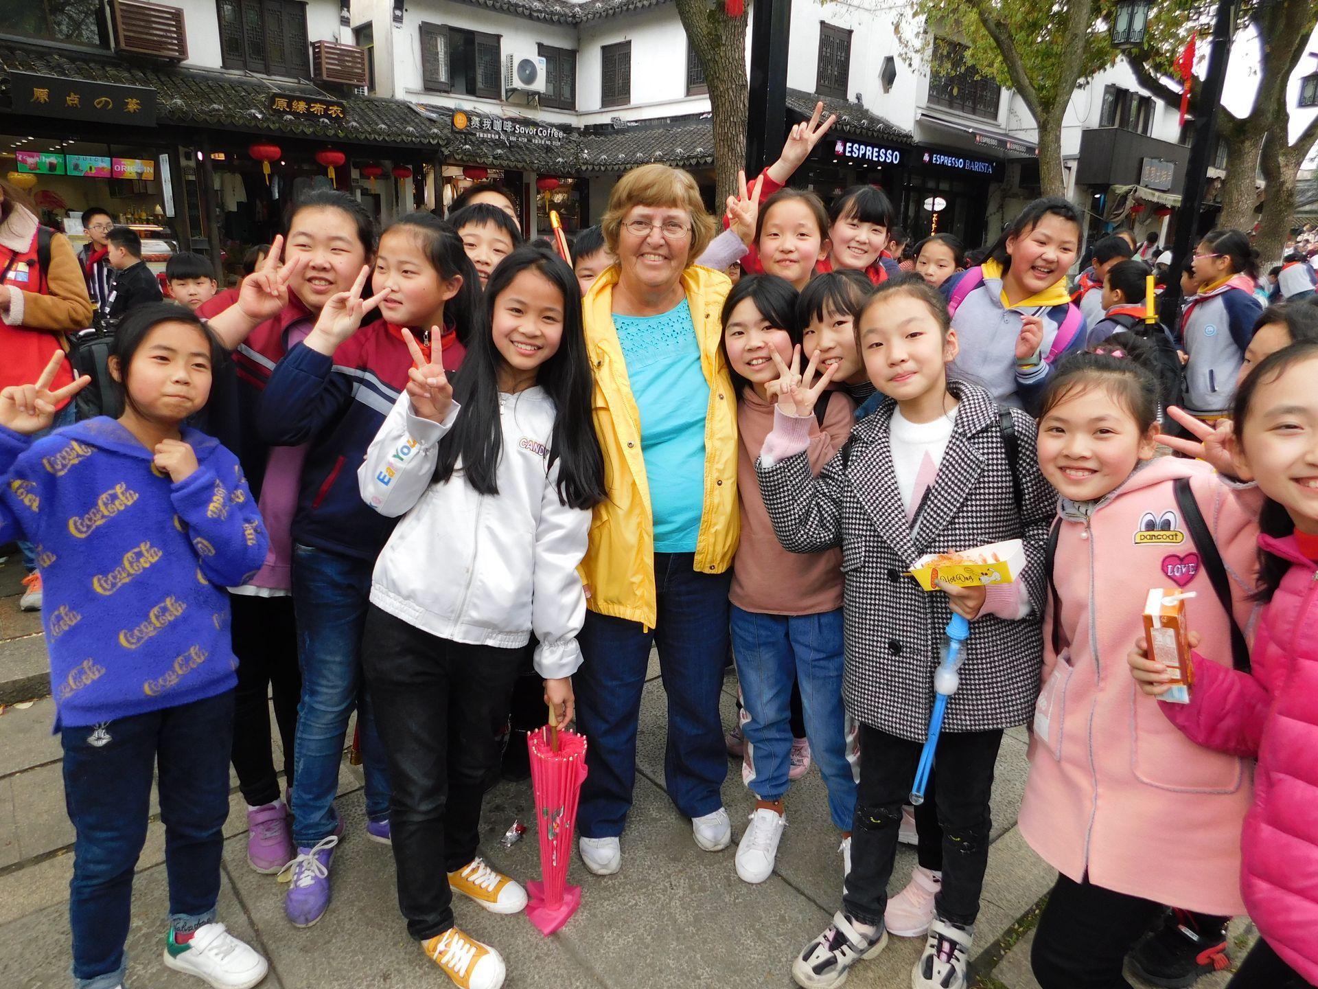
[[[252,807],[279,799],[279,778],[270,752],[270,702],[283,742],[285,786],[293,790],[293,749],[298,733],[302,671],[293,597],[229,595],[233,655],[239,686],[233,692],[233,771]]]

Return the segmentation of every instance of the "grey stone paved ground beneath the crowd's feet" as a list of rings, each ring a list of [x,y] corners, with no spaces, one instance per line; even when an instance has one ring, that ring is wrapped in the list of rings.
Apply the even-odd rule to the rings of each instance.
[[[45,694],[45,650],[40,621],[17,608],[18,574],[0,566],[0,704]],[[33,686],[33,684],[37,686]],[[735,680],[725,684],[730,724]],[[0,713],[0,989],[70,985],[67,890],[72,828],[65,815],[59,745],[51,737],[53,704],[8,707]],[[658,669],[645,690],[635,808],[623,837],[622,872],[590,876],[573,856],[569,881],[583,886],[583,906],[568,926],[542,938],[522,915],[494,916],[457,903],[457,922],[493,943],[507,960],[509,989],[787,989],[792,955],[828,923],[841,897],[838,835],[828,822],[824,785],[813,770],[788,796],[789,827],[775,874],[759,886],[737,878],[733,849],[710,854],[692,843],[691,825],[663,790],[664,695]],[[278,762],[278,760],[277,760]],[[734,839],[745,827],[751,798],[729,764],[724,799]],[[1025,734],[1003,742],[994,791],[994,845],[983,910],[977,926],[979,985],[1035,989],[1029,976],[1027,916],[1052,884],[1053,873],[1024,844],[1015,827],[1025,781]],[[358,989],[447,985],[407,938],[398,915],[389,849],[365,840],[361,773],[344,760],[339,807],[347,837],[335,861],[333,903],[315,927],[295,930],[283,916],[283,886],[253,873],[245,860],[246,818],[235,789],[225,827],[220,913],[241,938],[272,963],[270,989]],[[514,819],[531,822],[529,785],[501,783],[486,798],[484,852],[517,878],[539,874],[535,833],[511,849],[498,837]],[[153,803],[154,811],[154,803]],[[199,982],[161,964],[167,913],[163,828],[153,819],[138,864],[129,939],[132,989],[195,989]],[[892,891],[904,884],[915,854],[902,848]],[[853,969],[854,989],[909,985],[921,944],[894,939],[878,959]],[[1220,989],[1226,973],[1198,985]]]

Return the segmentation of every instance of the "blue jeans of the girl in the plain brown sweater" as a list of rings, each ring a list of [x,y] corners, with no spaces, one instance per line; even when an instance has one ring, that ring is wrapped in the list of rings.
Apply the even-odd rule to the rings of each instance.
[[[759,614],[733,605],[733,655],[741,683],[746,758],[742,778],[762,800],[787,793],[792,680],[801,684],[805,737],[828,787],[833,824],[851,829],[855,777],[846,760],[842,707],[842,609]]]

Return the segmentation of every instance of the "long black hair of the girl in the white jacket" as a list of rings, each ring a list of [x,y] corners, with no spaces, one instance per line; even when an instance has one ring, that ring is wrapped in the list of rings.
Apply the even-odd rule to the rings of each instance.
[[[535,272],[546,278],[563,297],[559,348],[540,364],[535,376],[535,384],[554,400],[556,411],[546,471],[559,463],[558,493],[564,505],[592,508],[605,497],[604,455],[590,418],[594,378],[581,324],[581,286],[567,261],[531,245],[519,247],[500,261],[485,286],[480,326],[472,334],[463,368],[455,376],[453,401],[464,411],[439,440],[434,481],[448,481],[460,472],[481,494],[498,494],[498,462],[503,455],[498,372],[503,357],[494,345],[490,327],[500,295],[523,272]],[[517,396],[509,401],[517,402]]]

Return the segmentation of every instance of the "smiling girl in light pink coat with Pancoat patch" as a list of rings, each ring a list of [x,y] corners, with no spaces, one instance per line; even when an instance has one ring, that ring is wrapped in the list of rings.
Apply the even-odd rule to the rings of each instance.
[[[1235,840],[1249,765],[1186,740],[1139,695],[1124,659],[1149,588],[1194,592],[1190,621],[1207,641],[1230,641],[1232,616],[1178,493],[1220,550],[1240,628],[1252,611],[1257,527],[1209,464],[1155,459],[1159,386],[1141,356],[1072,357],[1039,419],[1039,465],[1061,494],[1020,811],[1021,835],[1061,873],[1035,935],[1043,989],[1128,989],[1123,959],[1162,903],[1218,915],[1218,927],[1242,913]]]

